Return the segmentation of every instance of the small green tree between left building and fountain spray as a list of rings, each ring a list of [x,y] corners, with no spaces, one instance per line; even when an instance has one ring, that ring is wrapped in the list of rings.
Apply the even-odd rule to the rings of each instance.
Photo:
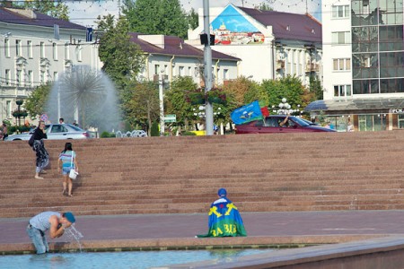
[[[24,101],[24,108],[27,109],[31,119],[35,119],[38,115],[44,113],[50,90],[52,89],[52,83],[42,84],[35,88],[30,94],[27,100]]]

